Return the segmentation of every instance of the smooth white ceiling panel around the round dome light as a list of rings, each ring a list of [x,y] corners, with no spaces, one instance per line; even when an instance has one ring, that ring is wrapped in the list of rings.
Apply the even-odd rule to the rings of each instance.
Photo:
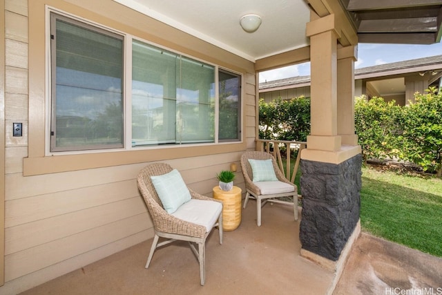
[[[114,1],[251,61],[309,45],[310,10],[303,0]],[[262,18],[256,32],[240,27],[247,14]]]

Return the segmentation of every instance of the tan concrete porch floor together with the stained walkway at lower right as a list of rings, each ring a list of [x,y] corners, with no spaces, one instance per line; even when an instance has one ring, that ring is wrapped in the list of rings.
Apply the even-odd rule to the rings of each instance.
[[[22,294],[322,295],[331,294],[336,283],[334,294],[386,294],[390,286],[410,287],[407,277],[412,278],[412,287],[432,286],[435,291],[442,287],[441,259],[366,234],[356,240],[337,282],[334,273],[300,257],[300,220],[293,220],[290,207],[267,204],[262,226],[257,227],[255,204],[252,201],[242,211],[238,229],[224,232],[222,245],[217,229],[209,236],[204,286],[198,261],[186,242],[157,249],[150,267],[144,269],[149,239]],[[405,273],[398,275],[398,269]]]

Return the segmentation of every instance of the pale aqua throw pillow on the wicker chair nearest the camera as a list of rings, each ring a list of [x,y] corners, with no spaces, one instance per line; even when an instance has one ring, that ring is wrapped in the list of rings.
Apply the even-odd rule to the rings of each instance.
[[[177,169],[163,175],[151,176],[151,180],[163,203],[164,210],[169,214],[177,211],[182,204],[189,202],[192,198]]]

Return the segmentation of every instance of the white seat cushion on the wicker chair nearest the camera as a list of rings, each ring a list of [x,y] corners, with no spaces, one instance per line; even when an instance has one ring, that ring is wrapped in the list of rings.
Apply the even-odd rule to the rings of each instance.
[[[220,202],[191,199],[189,202],[182,204],[171,215],[202,225],[206,227],[206,232],[209,232],[218,220],[221,211],[222,204]]]

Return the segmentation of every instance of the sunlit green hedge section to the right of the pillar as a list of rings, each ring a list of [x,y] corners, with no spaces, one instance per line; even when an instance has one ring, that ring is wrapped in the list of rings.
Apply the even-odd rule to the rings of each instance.
[[[442,173],[442,93],[416,93],[408,106],[375,97],[356,99],[355,127],[364,158],[410,161]]]

